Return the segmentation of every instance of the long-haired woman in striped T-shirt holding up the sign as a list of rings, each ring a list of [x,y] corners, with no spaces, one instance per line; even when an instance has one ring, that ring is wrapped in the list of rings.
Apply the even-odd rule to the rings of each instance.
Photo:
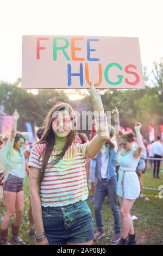
[[[47,114],[43,136],[30,154],[30,199],[36,245],[92,244],[93,222],[85,202],[88,196],[85,162],[101,150],[109,132],[101,96],[93,83],[89,92],[99,123],[92,141],[74,143],[76,116],[70,105],[60,102]]]

